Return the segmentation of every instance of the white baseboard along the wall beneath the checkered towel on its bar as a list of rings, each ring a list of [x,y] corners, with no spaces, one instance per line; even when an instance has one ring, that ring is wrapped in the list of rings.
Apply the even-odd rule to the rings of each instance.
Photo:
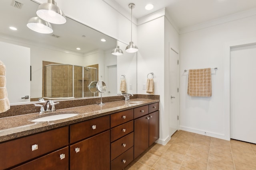
[[[213,132],[209,132],[209,131],[202,131],[199,129],[193,129],[193,128],[184,127],[184,126],[180,126],[180,130],[197,133],[200,135],[206,135],[206,136],[210,136],[210,137],[216,137],[219,139],[224,139],[224,140],[230,141],[230,139],[228,139],[228,137],[226,137],[224,134],[218,134],[218,133],[213,133]]]

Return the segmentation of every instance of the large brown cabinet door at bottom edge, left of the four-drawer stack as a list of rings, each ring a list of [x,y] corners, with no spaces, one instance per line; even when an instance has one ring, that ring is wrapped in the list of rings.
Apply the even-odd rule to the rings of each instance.
[[[70,170],[109,170],[110,130],[70,146]]]

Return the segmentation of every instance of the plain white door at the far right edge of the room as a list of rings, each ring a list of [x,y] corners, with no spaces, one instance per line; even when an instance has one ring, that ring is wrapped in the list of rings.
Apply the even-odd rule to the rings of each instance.
[[[230,137],[256,143],[256,45],[230,51]]]

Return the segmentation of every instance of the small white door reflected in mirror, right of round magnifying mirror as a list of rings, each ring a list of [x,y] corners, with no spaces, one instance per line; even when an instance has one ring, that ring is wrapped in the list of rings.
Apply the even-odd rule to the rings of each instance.
[[[117,68],[116,65],[108,66],[107,94],[117,95]]]

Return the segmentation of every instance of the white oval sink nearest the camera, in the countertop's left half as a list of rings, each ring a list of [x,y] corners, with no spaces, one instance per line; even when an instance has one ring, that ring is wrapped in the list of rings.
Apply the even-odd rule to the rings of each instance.
[[[39,115],[30,119],[32,122],[42,122],[42,121],[54,121],[60,119],[66,119],[69,117],[74,117],[78,115],[76,111],[61,111],[61,112],[53,112],[53,113],[44,113],[43,115]]]

